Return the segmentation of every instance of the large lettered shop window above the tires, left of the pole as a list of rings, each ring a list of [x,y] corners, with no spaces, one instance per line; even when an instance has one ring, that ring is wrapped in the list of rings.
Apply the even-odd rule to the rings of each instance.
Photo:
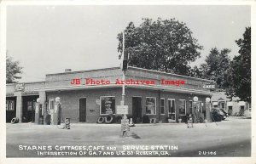
[[[115,114],[115,99],[111,96],[101,97],[101,115]]]

